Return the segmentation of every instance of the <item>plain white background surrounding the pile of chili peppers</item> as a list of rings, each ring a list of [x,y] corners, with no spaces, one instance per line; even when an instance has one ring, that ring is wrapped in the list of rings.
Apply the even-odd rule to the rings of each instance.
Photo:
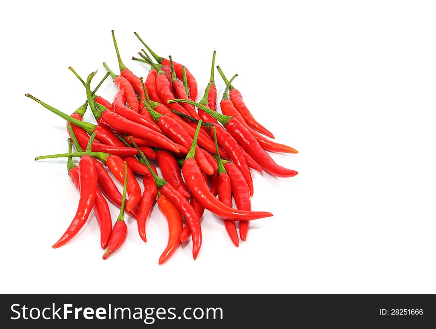
[[[44,1],[43,1],[44,2]],[[328,3],[327,3],[328,2]],[[436,293],[433,1],[9,1],[1,10],[2,293]],[[65,123],[85,100],[82,75],[117,70],[142,38],[190,68],[203,93],[213,50],[255,117],[300,153],[273,155],[295,178],[254,173],[252,223],[235,248],[206,215],[191,245],[158,259],[166,221],[155,207],[102,260],[94,218],[53,250],[75,212]],[[217,74],[218,93],[223,83]],[[108,81],[99,94],[116,89]],[[87,114],[87,120],[92,120]],[[117,215],[114,207],[113,217]]]

